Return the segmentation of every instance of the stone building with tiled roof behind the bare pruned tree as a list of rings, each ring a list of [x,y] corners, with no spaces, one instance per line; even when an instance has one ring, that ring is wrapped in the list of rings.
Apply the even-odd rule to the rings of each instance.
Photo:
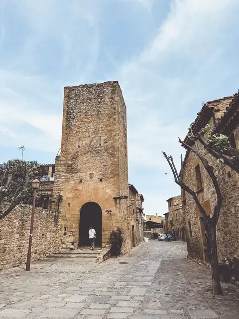
[[[227,135],[231,146],[239,149],[239,94],[204,104],[192,124],[192,130],[194,133],[199,132],[207,124],[210,125],[211,132]],[[184,142],[193,145],[188,137]],[[224,257],[239,256],[239,176],[220,160],[212,157],[200,143],[198,143],[198,148],[214,167],[222,192],[223,202],[217,225],[219,260]],[[186,152],[183,162],[182,180],[197,192],[202,206],[210,215],[216,203],[216,192],[201,161],[190,151]],[[206,245],[204,220],[192,196],[184,191],[182,191],[182,203],[188,255],[207,263],[209,252]]]

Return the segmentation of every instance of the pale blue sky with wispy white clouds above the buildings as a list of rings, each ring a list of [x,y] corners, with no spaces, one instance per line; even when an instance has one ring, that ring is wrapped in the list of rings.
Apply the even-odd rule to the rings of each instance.
[[[178,136],[239,89],[239,0],[0,0],[0,161],[54,162],[64,86],[118,80],[129,182],[148,214],[180,193]],[[165,175],[165,172],[168,174]]]

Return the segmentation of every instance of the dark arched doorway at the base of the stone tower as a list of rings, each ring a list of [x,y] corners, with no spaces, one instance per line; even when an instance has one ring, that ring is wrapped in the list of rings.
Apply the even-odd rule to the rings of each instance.
[[[96,231],[95,245],[102,247],[102,209],[97,203],[85,203],[80,211],[79,246],[90,246],[89,228]]]

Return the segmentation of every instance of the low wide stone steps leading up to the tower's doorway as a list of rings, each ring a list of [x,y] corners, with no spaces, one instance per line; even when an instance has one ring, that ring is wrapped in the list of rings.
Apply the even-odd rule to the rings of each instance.
[[[80,262],[80,263],[97,263],[98,257],[102,253],[101,248],[95,248],[95,250],[90,250],[89,248],[78,248],[77,250],[66,250],[62,249],[56,253],[47,256],[47,260],[54,261],[70,261],[70,262]]]

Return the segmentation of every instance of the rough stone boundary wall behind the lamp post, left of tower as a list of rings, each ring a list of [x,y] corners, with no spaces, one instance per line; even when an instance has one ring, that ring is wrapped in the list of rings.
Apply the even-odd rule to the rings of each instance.
[[[19,205],[0,220],[0,270],[26,263],[32,206]],[[31,261],[39,260],[60,248],[60,215],[36,208]]]

